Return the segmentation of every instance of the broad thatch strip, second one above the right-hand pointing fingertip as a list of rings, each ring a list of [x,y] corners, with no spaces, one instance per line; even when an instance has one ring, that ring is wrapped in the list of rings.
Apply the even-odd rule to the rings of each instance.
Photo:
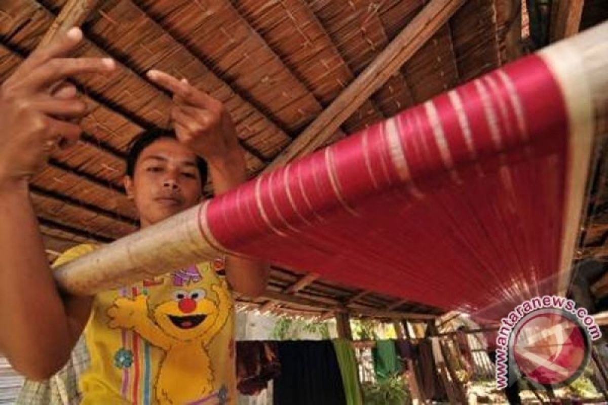
[[[136,3],[233,89],[291,134],[321,111],[314,95],[228,0]]]

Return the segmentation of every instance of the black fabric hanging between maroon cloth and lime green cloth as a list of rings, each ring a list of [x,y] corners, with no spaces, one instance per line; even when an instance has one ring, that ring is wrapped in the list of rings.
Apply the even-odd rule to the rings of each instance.
[[[281,375],[274,379],[274,405],[346,405],[331,341],[286,341],[277,345]]]

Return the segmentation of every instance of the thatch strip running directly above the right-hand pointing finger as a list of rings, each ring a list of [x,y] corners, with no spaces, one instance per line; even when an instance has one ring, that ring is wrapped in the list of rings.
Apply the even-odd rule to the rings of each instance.
[[[133,2],[114,3],[105,2],[98,13],[89,18],[87,33],[96,43],[112,50],[112,54],[122,55],[122,60],[140,75],[152,67],[165,70],[188,78],[194,86],[223,101],[237,125],[240,138],[251,147],[247,150],[257,151],[261,160],[273,157],[291,140]],[[129,35],[133,26],[139,33],[135,42]]]

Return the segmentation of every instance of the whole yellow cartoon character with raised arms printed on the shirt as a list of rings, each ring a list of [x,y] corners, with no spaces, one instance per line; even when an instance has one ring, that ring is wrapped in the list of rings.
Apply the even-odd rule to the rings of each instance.
[[[217,304],[206,290],[189,287],[195,279],[201,280],[192,268],[174,273],[173,285],[181,287],[154,308],[148,307],[148,295],[139,295],[117,298],[108,309],[109,327],[132,329],[165,352],[155,387],[160,404],[184,404],[212,394],[214,372],[207,350],[230,316],[232,298],[223,279],[211,286]],[[175,370],[188,370],[193,380],[184,384]]]

